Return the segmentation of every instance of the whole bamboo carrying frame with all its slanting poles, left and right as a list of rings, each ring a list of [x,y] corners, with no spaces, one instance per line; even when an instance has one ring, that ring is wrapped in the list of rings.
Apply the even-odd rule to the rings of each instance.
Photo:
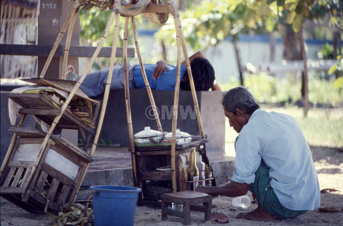
[[[103,36],[100,40],[100,43],[99,43],[98,47],[96,48],[92,58],[90,59],[90,61],[86,65],[80,80],[78,82],[76,82],[76,84],[73,87],[72,91],[70,92],[68,98],[66,99],[66,101],[62,105],[62,107],[60,109],[60,115],[57,115],[55,120],[52,122],[50,129],[46,133],[45,138],[44,138],[44,140],[40,146],[39,153],[43,153],[44,150],[46,149],[48,142],[50,141],[50,136],[52,135],[52,132],[56,128],[56,125],[58,124],[59,120],[61,119],[64,111],[67,109],[67,107],[68,107],[69,103],[71,102],[74,94],[76,93],[76,90],[78,90],[78,88],[80,87],[80,85],[84,81],[86,75],[90,71],[96,57],[98,56],[100,49],[103,47],[104,41],[105,41],[105,39],[108,35],[108,32],[109,32],[109,29],[110,29],[110,26],[113,24],[114,17],[116,17],[116,22],[115,22],[115,31],[114,31],[114,36],[113,36],[113,43],[114,44],[117,43],[117,38],[118,38],[118,34],[119,34],[119,18],[120,18],[120,16],[124,16],[124,17],[126,17],[126,20],[125,20],[125,24],[124,24],[125,30],[124,30],[124,38],[123,38],[123,68],[124,68],[124,80],[125,80],[126,112],[127,112],[129,138],[130,138],[133,182],[134,182],[134,186],[138,187],[138,176],[137,176],[137,168],[136,168],[136,163],[135,163],[135,145],[134,145],[132,121],[131,121],[129,81],[128,81],[128,71],[127,71],[127,42],[128,42],[129,17],[131,17],[135,48],[137,50],[137,55],[138,55],[140,67],[141,67],[141,70],[143,73],[143,78],[144,78],[144,82],[146,85],[146,89],[147,89],[147,92],[148,92],[148,95],[150,98],[150,102],[151,102],[151,105],[152,105],[152,108],[154,111],[158,130],[162,132],[162,126],[161,126],[161,123],[160,123],[158,115],[157,115],[156,105],[155,105],[155,102],[154,102],[154,99],[152,96],[151,88],[150,88],[149,83],[148,83],[147,78],[146,78],[146,74],[145,74],[145,70],[144,70],[144,66],[143,66],[143,62],[142,62],[142,58],[141,58],[141,54],[140,54],[140,50],[139,50],[139,46],[138,46],[137,31],[135,28],[134,16],[136,16],[140,13],[171,13],[173,15],[173,18],[174,18],[175,29],[176,29],[176,40],[177,40],[177,73],[176,73],[176,83],[175,83],[174,109],[173,109],[173,119],[172,119],[172,139],[171,139],[171,168],[172,168],[171,178],[172,178],[173,192],[177,192],[177,183],[176,183],[176,178],[177,178],[177,175],[176,175],[176,123],[177,123],[177,112],[178,112],[179,84],[180,84],[181,44],[182,44],[182,49],[183,49],[185,60],[186,60],[186,66],[187,66],[187,71],[188,71],[190,85],[191,85],[191,92],[192,92],[192,96],[193,96],[193,103],[194,103],[194,106],[196,109],[197,120],[198,120],[198,125],[199,125],[199,130],[200,130],[200,136],[201,136],[201,138],[205,138],[205,135],[204,135],[203,127],[202,127],[198,100],[197,100],[197,96],[196,96],[196,92],[195,92],[195,88],[194,88],[192,73],[191,73],[191,69],[190,69],[190,63],[189,63],[189,59],[188,59],[188,55],[187,55],[185,38],[184,38],[184,35],[182,32],[182,27],[181,27],[180,18],[179,18],[179,14],[178,14],[176,4],[175,4],[174,0],[166,0],[168,3],[167,5],[150,4],[150,1],[151,0],[140,0],[137,4],[129,4],[128,6],[125,6],[124,8],[122,8],[121,7],[121,1],[120,0],[114,0],[113,4],[110,5],[110,8],[112,8],[110,19],[107,23],[107,26],[106,26],[105,31],[103,33]],[[65,24],[63,25],[59,35],[57,36],[55,44],[52,47],[50,55],[48,56],[47,61],[44,65],[42,73],[39,76],[40,78],[44,78],[44,75],[45,75],[45,73],[48,69],[48,66],[52,60],[52,57],[54,56],[56,49],[57,49],[57,47],[58,47],[58,45],[59,45],[59,43],[63,37],[63,34],[66,31],[67,26],[70,24],[68,36],[67,36],[66,49],[64,52],[62,73],[64,73],[66,71],[66,62],[68,59],[68,51],[69,51],[69,47],[70,47],[71,34],[72,34],[76,15],[77,15],[78,10],[81,6],[82,6],[81,4],[75,4],[74,8],[71,10]],[[129,8],[129,7],[131,7],[131,8]],[[126,8],[129,8],[129,9],[126,9]],[[102,102],[102,108],[101,108],[101,112],[100,112],[98,127],[97,127],[95,138],[94,138],[94,141],[92,144],[90,156],[93,156],[93,154],[95,152],[97,142],[99,139],[99,134],[100,134],[100,131],[102,128],[103,120],[104,120],[104,115],[105,115],[105,110],[106,110],[108,95],[109,95],[109,90],[110,90],[110,84],[111,84],[111,79],[112,79],[112,73],[113,73],[114,59],[116,56],[116,49],[117,49],[116,46],[112,46],[110,67],[109,67],[109,73],[108,73],[106,87],[105,87],[104,99]],[[62,79],[65,79],[65,75],[63,75],[63,74],[62,74]],[[22,123],[23,119],[24,119],[24,116],[21,120],[21,123]],[[20,125],[18,125],[18,126],[20,126]],[[11,145],[8,149],[7,155],[10,155],[12,152],[13,145],[14,145],[14,144],[12,145],[12,143],[14,143],[14,141],[15,141],[15,135],[13,136],[13,138],[14,139],[12,139],[12,142],[11,142]],[[6,155],[6,157],[7,157],[7,155]],[[2,172],[3,172],[4,168],[6,167],[6,164],[7,164],[7,161],[4,161],[4,163],[1,167],[1,176],[2,176]],[[83,174],[80,175],[80,177],[78,178],[78,181],[81,181],[81,182],[83,181],[89,165],[90,165],[90,163],[85,164],[86,170],[83,170]],[[31,170],[32,173],[30,175],[28,175],[28,177],[27,177],[28,181],[30,181],[32,179],[32,177],[34,177],[35,170],[36,170],[36,164],[33,165],[32,170]],[[78,190],[81,186],[81,182],[79,185],[75,186],[75,190],[73,191],[74,197],[71,200],[72,202],[71,201],[68,202],[70,205],[73,204],[73,202],[75,201],[76,195],[78,194]],[[27,197],[28,192],[29,192],[29,188],[26,187],[24,189],[23,195],[25,197]]]

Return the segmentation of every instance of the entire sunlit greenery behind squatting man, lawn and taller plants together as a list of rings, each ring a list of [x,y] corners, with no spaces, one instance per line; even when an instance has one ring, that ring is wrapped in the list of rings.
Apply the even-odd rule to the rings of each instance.
[[[301,99],[299,73],[288,73],[287,78],[275,78],[266,73],[244,74],[244,86],[255,97],[263,110],[282,112],[297,120],[307,142],[313,146],[343,147],[343,87],[335,87],[335,77],[316,71],[308,73],[308,98],[310,103],[334,108],[310,108],[304,117],[303,108],[294,105]],[[220,84],[223,90],[239,86],[239,80],[230,76],[229,82]],[[289,104],[291,98],[293,103]],[[275,103],[275,104],[274,104]],[[284,103],[285,107],[271,108]],[[280,105],[279,105],[280,106]],[[233,144],[237,133],[226,121],[226,143]]]

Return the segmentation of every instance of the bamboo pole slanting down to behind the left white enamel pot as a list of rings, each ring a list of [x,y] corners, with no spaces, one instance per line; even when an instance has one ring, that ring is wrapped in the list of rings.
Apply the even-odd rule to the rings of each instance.
[[[146,91],[148,92],[149,99],[150,99],[150,104],[151,104],[152,109],[154,111],[154,116],[155,116],[156,123],[157,123],[157,129],[158,129],[158,131],[163,132],[162,126],[161,126],[161,122],[159,121],[159,117],[158,117],[158,114],[157,114],[154,97],[152,95],[148,79],[146,78],[146,73],[145,73],[144,66],[143,66],[141,52],[140,52],[139,46],[138,46],[137,31],[136,31],[136,25],[135,25],[134,17],[131,17],[131,22],[132,22],[133,38],[134,38],[134,44],[135,44],[136,51],[137,51],[138,61],[139,61],[139,65],[141,66],[141,70],[142,70],[142,74],[143,74],[143,79],[144,79],[144,83],[145,83],[145,86],[146,86]]]

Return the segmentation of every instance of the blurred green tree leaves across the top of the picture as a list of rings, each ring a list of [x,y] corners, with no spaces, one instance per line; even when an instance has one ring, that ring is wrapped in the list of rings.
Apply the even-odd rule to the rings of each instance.
[[[277,30],[280,23],[289,24],[298,32],[305,18],[329,20],[326,24],[340,29],[343,25],[343,3],[340,0],[203,0],[183,3],[185,10],[179,11],[181,24],[187,44],[194,51],[216,46],[228,36],[235,39],[239,33],[271,32]],[[110,10],[103,12],[96,7],[88,11],[80,10],[83,44],[98,44],[109,14]],[[144,22],[141,16],[137,16],[137,29],[153,24]],[[123,23],[124,18],[120,18],[120,24]],[[110,33],[113,30],[111,27]],[[118,46],[122,46],[122,34],[121,27]],[[173,47],[176,43],[174,21],[168,20],[160,26],[156,38]],[[108,38],[105,45],[111,46],[112,39]]]

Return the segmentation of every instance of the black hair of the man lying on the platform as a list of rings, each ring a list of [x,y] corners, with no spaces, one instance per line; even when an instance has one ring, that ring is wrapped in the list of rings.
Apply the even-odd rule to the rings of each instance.
[[[190,66],[195,90],[209,90],[213,86],[215,79],[214,69],[210,61],[198,57],[190,63]],[[183,90],[191,90],[188,71],[185,72],[184,76],[186,76],[186,82],[181,81],[180,86]]]

